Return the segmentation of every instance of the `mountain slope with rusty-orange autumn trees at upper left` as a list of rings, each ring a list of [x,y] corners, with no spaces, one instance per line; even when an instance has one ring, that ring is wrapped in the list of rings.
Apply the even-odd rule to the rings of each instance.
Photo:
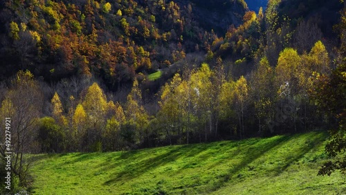
[[[208,11],[185,0],[1,1],[0,80],[23,69],[46,82],[93,75],[116,91],[205,51],[216,37],[210,30],[239,26],[244,1],[228,3]]]

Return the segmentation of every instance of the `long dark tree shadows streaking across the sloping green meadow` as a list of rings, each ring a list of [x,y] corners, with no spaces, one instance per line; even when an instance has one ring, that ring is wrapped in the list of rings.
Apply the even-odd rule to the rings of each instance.
[[[301,136],[307,136],[301,137]],[[65,163],[78,163],[83,162],[85,160],[93,160],[102,156],[102,163],[99,165],[93,165],[93,167],[97,167],[92,171],[102,172],[102,171],[114,171],[114,167],[118,167],[117,171],[114,171],[112,174],[112,178],[102,183],[103,185],[112,185],[113,183],[117,183],[121,181],[122,183],[126,183],[129,180],[140,177],[143,174],[150,173],[154,169],[158,167],[163,167],[169,163],[174,163],[174,161],[179,158],[183,158],[183,163],[179,160],[178,169],[174,169],[170,171],[170,174],[180,174],[183,173],[186,169],[194,168],[192,165],[196,163],[199,165],[200,163],[206,163],[206,160],[210,160],[206,167],[203,167],[203,170],[214,169],[218,166],[227,165],[227,161],[233,160],[233,158],[237,158],[235,160],[235,164],[233,167],[226,168],[226,174],[220,175],[216,177],[210,177],[208,179],[217,180],[212,181],[212,183],[199,183],[196,185],[208,185],[207,189],[209,192],[214,192],[220,187],[224,187],[229,180],[237,179],[239,174],[242,174],[244,169],[246,170],[251,163],[255,160],[261,158],[266,153],[275,154],[276,151],[280,151],[282,149],[288,148],[290,143],[294,143],[294,140],[300,140],[302,145],[295,145],[295,151],[292,154],[285,154],[282,159],[281,164],[276,165],[273,169],[274,174],[281,174],[282,171],[286,170],[292,163],[297,160],[300,160],[305,154],[307,154],[313,147],[316,147],[316,144],[322,142],[325,139],[325,134],[323,133],[308,133],[308,134],[296,134],[293,136],[278,136],[273,138],[253,138],[249,140],[242,141],[226,141],[226,142],[212,142],[208,144],[195,144],[195,145],[181,145],[174,147],[163,147],[156,149],[140,149],[134,151],[120,151],[117,153],[76,153],[76,154],[44,154],[37,156],[37,160],[41,160],[44,158],[59,158],[64,156],[71,156],[71,158],[66,158]],[[279,154],[277,154],[279,155]],[[215,160],[215,162],[213,161]],[[271,158],[271,160],[275,160],[275,158]],[[172,164],[174,165],[174,164]],[[190,166],[192,165],[192,166]],[[198,169],[195,169],[198,171]],[[153,171],[155,174],[159,174],[158,171]],[[242,176],[240,176],[241,178]],[[194,181],[192,181],[194,182]],[[170,185],[170,183],[167,183]],[[194,185],[194,187],[196,187]],[[181,184],[183,188],[189,188]],[[203,189],[201,189],[203,190]],[[203,192],[206,193],[206,192]]]

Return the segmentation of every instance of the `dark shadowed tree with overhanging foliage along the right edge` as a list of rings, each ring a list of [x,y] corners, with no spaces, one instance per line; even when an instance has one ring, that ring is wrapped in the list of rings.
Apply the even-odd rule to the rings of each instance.
[[[343,59],[330,76],[316,74],[316,88],[311,91],[320,109],[327,111],[338,121],[336,126],[331,127],[329,142],[325,147],[331,160],[322,165],[318,171],[319,175],[330,176],[337,169],[343,173],[346,171],[346,156],[343,155],[346,150],[346,1],[344,3],[341,22],[336,26],[340,30],[340,55]]]

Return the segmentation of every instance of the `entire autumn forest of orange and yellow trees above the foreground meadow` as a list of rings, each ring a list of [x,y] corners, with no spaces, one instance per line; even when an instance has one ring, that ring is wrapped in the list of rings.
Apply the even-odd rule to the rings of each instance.
[[[11,118],[17,185],[30,186],[28,154],[316,130],[343,153],[346,4],[262,3],[1,1],[0,125]],[[319,174],[345,167],[331,158]]]

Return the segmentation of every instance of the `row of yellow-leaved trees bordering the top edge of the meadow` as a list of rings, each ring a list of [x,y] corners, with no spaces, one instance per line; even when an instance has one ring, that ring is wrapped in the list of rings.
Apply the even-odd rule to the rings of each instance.
[[[253,73],[237,79],[226,75],[219,58],[213,68],[203,63],[183,75],[176,73],[157,94],[157,111],[145,105],[137,80],[125,102],[114,102],[113,93],[106,95],[97,82],[62,101],[66,95],[42,91],[46,86],[30,71],[19,71],[4,89],[1,116],[11,117],[18,126],[18,138],[24,139],[17,140],[18,145],[30,144],[44,153],[118,151],[307,131],[331,122],[311,99],[314,78],[328,75],[330,64],[321,41],[303,55],[285,48],[275,67],[263,57]],[[51,101],[44,103],[50,94]]]

